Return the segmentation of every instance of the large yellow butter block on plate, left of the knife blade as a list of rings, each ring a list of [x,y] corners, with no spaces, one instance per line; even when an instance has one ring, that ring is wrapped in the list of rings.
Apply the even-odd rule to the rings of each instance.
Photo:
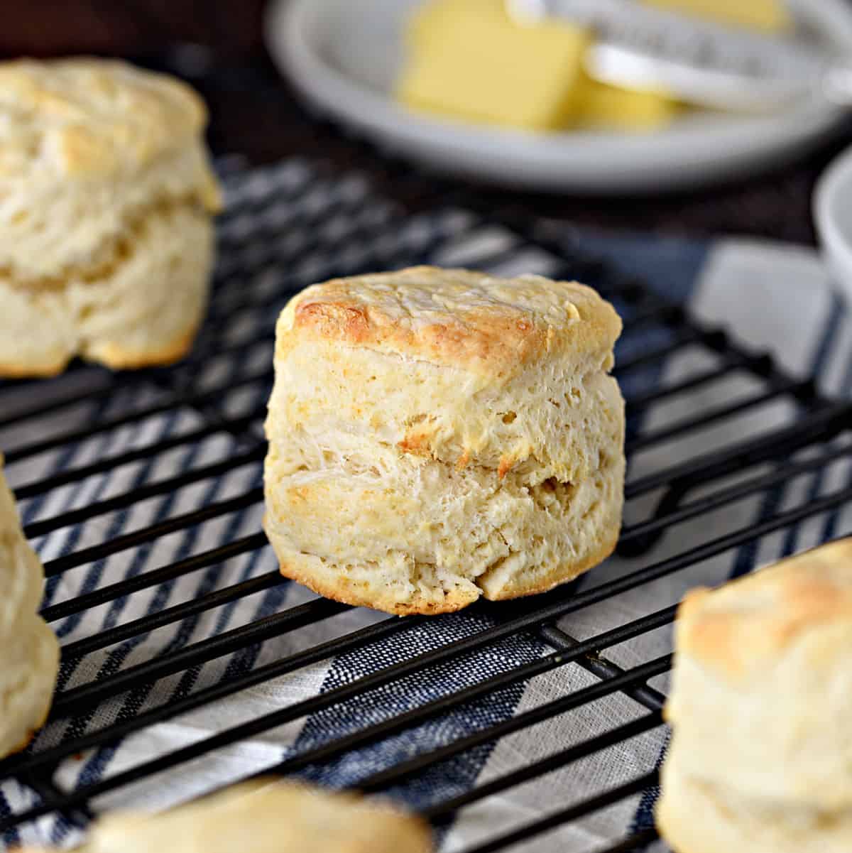
[[[397,97],[418,111],[559,130],[576,117],[588,44],[561,21],[519,26],[500,0],[441,0],[412,20]]]

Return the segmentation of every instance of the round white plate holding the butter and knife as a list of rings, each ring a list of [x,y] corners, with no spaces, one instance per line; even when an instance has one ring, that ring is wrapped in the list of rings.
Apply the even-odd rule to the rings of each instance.
[[[405,20],[420,2],[275,0],[270,54],[311,104],[375,141],[441,171],[522,189],[615,194],[727,180],[802,154],[843,115],[816,102],[770,117],[695,113],[652,134],[548,135],[420,116],[391,97]],[[799,3],[812,28],[852,55],[852,4]]]

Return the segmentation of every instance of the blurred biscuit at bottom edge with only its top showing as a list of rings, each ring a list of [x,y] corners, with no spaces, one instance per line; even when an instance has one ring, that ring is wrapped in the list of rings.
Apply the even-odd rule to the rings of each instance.
[[[102,817],[81,853],[431,853],[424,821],[352,794],[235,786],[160,815]],[[21,851],[23,853],[23,851]],[[37,853],[30,850],[30,853]]]

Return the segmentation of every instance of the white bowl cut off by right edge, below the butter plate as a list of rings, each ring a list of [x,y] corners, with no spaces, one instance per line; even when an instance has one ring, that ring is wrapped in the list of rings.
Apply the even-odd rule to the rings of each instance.
[[[820,177],[814,219],[834,286],[852,304],[852,148]]]

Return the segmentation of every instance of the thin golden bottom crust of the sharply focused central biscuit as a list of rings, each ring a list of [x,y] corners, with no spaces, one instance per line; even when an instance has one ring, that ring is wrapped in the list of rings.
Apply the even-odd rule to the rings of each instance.
[[[377,578],[375,585],[368,585],[362,578],[351,578],[335,563],[321,560],[314,554],[292,551],[276,543],[275,535],[270,534],[265,522],[264,528],[275,550],[279,571],[283,577],[302,584],[323,598],[351,606],[369,607],[396,616],[437,616],[440,613],[459,611],[478,601],[480,597],[489,601],[507,601],[547,592],[564,583],[571,583],[583,572],[600,565],[615,550],[618,540],[618,531],[615,531],[599,548],[585,554],[582,559],[565,560],[544,577],[536,577],[528,586],[525,586],[521,579],[516,580],[501,589],[498,595],[488,595],[473,581],[466,581],[455,589],[443,590],[441,597],[427,597],[415,593],[408,599],[401,600],[393,594],[389,586],[380,588],[380,578]]]

